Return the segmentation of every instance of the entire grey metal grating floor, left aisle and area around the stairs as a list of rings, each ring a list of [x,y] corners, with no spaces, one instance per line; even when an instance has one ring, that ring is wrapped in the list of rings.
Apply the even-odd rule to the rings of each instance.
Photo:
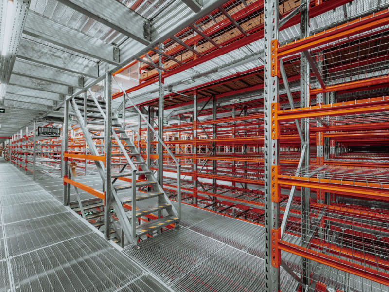
[[[78,180],[97,185],[97,178]],[[261,226],[183,205],[179,229],[141,242],[138,250],[121,250],[62,201],[61,179],[35,183],[0,160],[0,292],[265,291]],[[71,201],[76,201],[73,193]],[[285,236],[289,242],[300,240]],[[301,257],[284,253],[283,258],[294,271],[301,271]],[[314,262],[313,273],[314,279],[340,291],[388,291]],[[281,269],[282,291],[294,292],[296,287]]]

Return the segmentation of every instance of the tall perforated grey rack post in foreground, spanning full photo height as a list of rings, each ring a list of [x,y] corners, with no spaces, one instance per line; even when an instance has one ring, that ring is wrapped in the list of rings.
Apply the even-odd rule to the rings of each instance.
[[[279,164],[279,136],[272,134],[272,110],[279,102],[279,77],[277,74],[278,49],[278,0],[265,0],[264,4],[265,74],[264,74],[264,131],[265,131],[265,289],[266,292],[280,291],[281,251],[277,248],[281,236],[279,226],[279,195],[272,199],[272,186],[277,189]],[[272,109],[276,107],[275,109]],[[277,127],[277,122],[275,123]],[[277,130],[277,128],[275,128]],[[277,130],[277,133],[280,133]],[[274,184],[273,184],[274,183]]]

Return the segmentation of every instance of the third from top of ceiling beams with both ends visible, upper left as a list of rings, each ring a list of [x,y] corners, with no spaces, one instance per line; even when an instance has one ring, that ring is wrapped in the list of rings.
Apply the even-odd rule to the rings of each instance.
[[[77,76],[73,73],[68,73],[53,67],[43,66],[18,58],[15,60],[12,73],[78,88],[82,87],[82,81],[84,79],[83,77]]]

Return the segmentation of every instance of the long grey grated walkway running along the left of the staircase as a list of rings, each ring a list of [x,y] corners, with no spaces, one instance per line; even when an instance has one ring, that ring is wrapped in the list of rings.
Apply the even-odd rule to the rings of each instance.
[[[0,292],[170,291],[2,158],[0,203]]]

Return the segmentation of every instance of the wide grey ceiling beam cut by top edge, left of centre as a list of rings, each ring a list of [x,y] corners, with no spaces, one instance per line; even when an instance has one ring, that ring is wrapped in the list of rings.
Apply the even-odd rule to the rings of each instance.
[[[144,45],[150,41],[143,36],[143,22],[147,19],[112,0],[58,0],[62,4],[139,41]]]

